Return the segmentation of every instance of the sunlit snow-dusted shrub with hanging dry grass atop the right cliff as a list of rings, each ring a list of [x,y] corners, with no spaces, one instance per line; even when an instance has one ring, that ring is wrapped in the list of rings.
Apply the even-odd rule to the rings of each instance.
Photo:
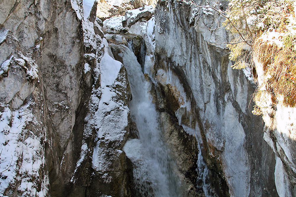
[[[255,62],[262,65],[263,77],[255,93],[253,113],[260,115],[262,93],[267,92],[273,98],[284,97],[284,104],[295,106],[296,103],[296,21],[295,3],[289,0],[253,1],[231,0],[227,14],[237,29],[251,40],[251,48],[237,43],[228,45],[229,58],[235,61],[234,68],[243,68],[245,53],[251,54],[252,66]],[[224,25],[234,35],[236,28],[229,20]],[[242,37],[235,39],[243,40]],[[236,41],[236,40],[234,40]],[[240,53],[239,53],[240,52]],[[248,54],[249,54],[248,53]]]

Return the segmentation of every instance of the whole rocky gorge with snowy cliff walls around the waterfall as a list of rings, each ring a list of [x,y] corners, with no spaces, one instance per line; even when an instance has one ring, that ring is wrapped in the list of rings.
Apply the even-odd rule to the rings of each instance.
[[[296,196],[295,108],[196,2],[1,1],[0,196]]]

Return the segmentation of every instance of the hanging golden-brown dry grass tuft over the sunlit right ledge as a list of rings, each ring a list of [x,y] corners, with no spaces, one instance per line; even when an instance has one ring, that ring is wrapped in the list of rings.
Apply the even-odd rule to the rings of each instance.
[[[283,47],[268,45],[257,39],[253,45],[253,59],[263,65],[264,80],[262,86],[275,96],[283,95],[284,103],[296,105],[296,51],[287,38]],[[289,41],[290,40],[290,41]]]

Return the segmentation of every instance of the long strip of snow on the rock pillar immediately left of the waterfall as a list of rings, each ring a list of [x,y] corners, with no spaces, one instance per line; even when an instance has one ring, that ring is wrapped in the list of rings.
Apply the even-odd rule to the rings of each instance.
[[[94,115],[97,143],[92,161],[93,168],[99,172],[111,170],[114,163],[120,162],[118,158],[122,153],[117,149],[123,146],[122,143],[126,139],[129,115],[127,103],[123,101],[126,97],[123,94],[126,92],[123,94],[120,92],[120,87],[126,89],[128,84],[127,78],[122,77],[124,67],[110,56],[106,39],[103,39],[103,43],[105,45],[104,56],[100,62],[102,95]],[[110,146],[111,144],[112,146]],[[105,155],[106,152],[114,157],[108,158]]]

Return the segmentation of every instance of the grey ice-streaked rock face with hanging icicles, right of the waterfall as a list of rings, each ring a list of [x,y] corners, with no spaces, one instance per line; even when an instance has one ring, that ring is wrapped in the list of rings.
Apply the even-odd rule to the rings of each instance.
[[[206,8],[159,1],[150,75],[165,95],[164,110],[199,142],[209,170],[201,186],[206,196],[277,196],[275,154],[248,107],[255,84],[231,69],[228,51],[216,44],[228,38],[214,30],[215,17]]]

